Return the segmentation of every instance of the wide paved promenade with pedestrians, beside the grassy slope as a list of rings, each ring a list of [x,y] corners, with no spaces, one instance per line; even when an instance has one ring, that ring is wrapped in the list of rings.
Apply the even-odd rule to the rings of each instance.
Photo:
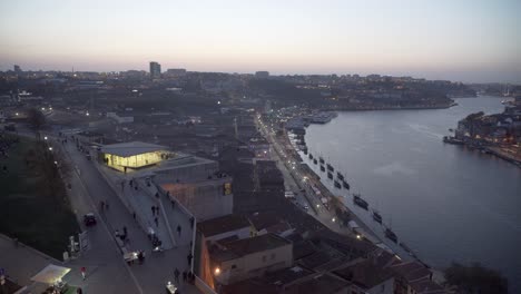
[[[131,214],[120,202],[114,189],[99,174],[92,161],[80,153],[72,140],[62,145],[50,134],[49,144],[55,148],[60,146],[67,151],[65,160],[73,167],[70,177],[71,204],[75,213],[82,217],[86,213],[94,212],[98,224],[88,228],[91,249],[79,258],[71,261],[68,265],[72,268],[66,276],[66,281],[72,285],[79,285],[87,293],[161,293],[165,284],[174,282],[174,270],[180,272],[188,270],[187,254],[189,245],[176,247],[161,253],[151,253],[151,244],[145,232],[134,220]],[[52,139],[52,141],[50,141]],[[100,212],[99,203],[104,200],[109,204],[109,209]],[[122,231],[126,226],[131,251],[145,251],[145,263],[142,265],[127,265],[116,244],[114,232]],[[189,244],[184,242],[183,244]],[[80,267],[87,267],[87,280],[80,277]],[[199,293],[191,285],[181,287],[183,293]]]

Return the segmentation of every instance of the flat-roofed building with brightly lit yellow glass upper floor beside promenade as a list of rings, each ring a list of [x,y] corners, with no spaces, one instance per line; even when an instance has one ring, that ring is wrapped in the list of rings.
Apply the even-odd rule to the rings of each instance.
[[[105,145],[98,158],[108,167],[130,174],[135,179],[147,178],[198,220],[233,212],[233,179],[219,171],[217,161],[141,141]]]

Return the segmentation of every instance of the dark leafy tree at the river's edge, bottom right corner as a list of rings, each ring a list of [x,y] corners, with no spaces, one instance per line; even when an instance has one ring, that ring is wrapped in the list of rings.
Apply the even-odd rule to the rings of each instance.
[[[463,294],[507,294],[509,284],[498,271],[479,263],[470,266],[452,263],[445,270],[446,284],[458,286]]]

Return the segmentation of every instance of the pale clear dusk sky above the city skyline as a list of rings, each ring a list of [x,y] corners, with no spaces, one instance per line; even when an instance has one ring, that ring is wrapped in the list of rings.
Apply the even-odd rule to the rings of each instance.
[[[521,1],[0,1],[0,70],[167,68],[521,84]]]

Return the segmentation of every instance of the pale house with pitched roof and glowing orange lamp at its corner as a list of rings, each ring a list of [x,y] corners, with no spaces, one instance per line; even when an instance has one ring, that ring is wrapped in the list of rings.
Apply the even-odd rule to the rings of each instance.
[[[216,288],[293,265],[292,243],[275,234],[216,242],[208,252]]]

